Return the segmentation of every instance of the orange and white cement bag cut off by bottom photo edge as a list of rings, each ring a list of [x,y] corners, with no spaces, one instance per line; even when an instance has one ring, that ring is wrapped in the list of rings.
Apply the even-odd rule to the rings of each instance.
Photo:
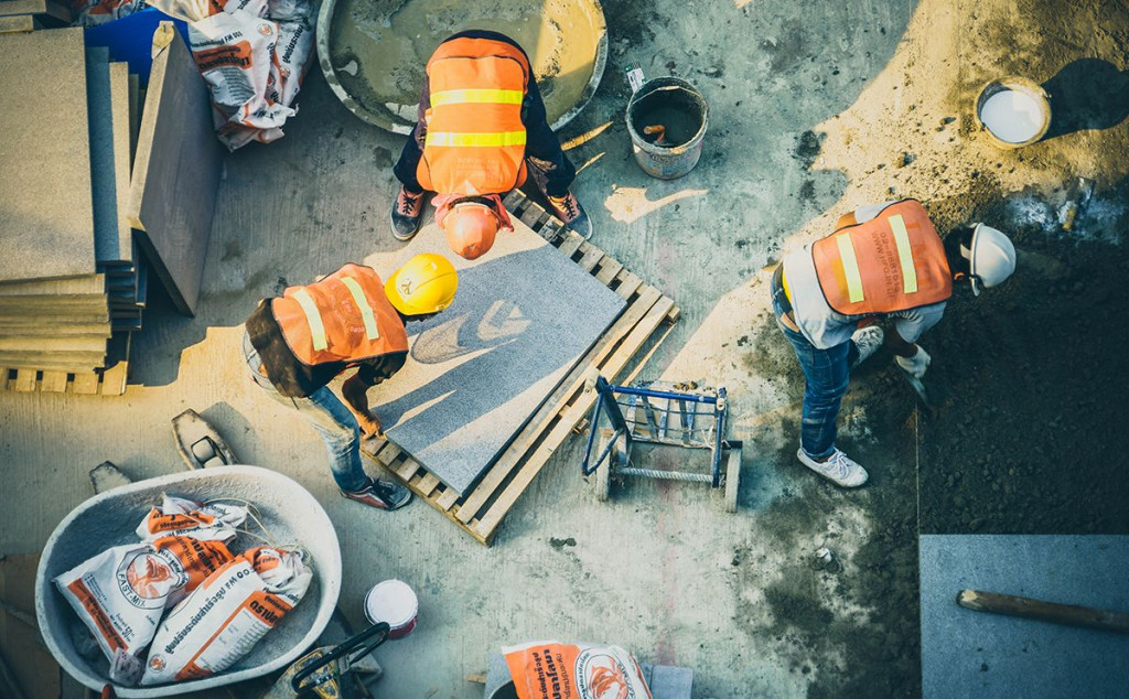
[[[502,654],[518,699],[650,699],[639,664],[619,646],[541,641]]]

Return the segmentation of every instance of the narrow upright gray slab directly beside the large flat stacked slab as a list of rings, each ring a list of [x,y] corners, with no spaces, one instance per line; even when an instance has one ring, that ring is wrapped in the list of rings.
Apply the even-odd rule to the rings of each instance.
[[[105,46],[86,50],[86,102],[94,194],[94,257],[98,262],[119,262],[124,257],[117,233],[114,105],[110,88],[110,49]]]

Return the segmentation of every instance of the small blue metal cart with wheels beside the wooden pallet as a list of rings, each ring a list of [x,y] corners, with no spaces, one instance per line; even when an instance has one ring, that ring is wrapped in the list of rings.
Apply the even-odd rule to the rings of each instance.
[[[743,445],[738,439],[725,437],[728,416],[725,388],[667,382],[615,386],[603,376],[597,376],[589,385],[599,396],[593,408],[588,448],[580,471],[585,477],[596,474],[598,499],[610,497],[613,479],[654,478],[709,483],[715,490],[724,488],[726,512],[737,512]],[[710,471],[636,466],[631,461],[631,447],[636,443],[708,449]]]

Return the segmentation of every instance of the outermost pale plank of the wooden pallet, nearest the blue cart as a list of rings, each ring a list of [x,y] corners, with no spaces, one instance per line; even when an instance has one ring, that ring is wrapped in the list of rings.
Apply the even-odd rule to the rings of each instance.
[[[648,312],[647,316],[640,322],[631,335],[624,342],[624,344],[616,351],[609,361],[604,365],[602,373],[606,372],[609,378],[614,378],[614,376],[623,368],[627,361],[634,355],[636,351],[642,343],[646,342],[647,338],[658,327],[663,318],[666,317],[667,312],[674,305],[671,298],[663,297],[658,304]],[[553,453],[568,439],[568,436],[572,432],[572,426],[584,417],[589,410],[592,410],[593,404],[596,402],[596,393],[586,393],[581,395],[575,403],[569,407],[568,412],[561,417],[561,420],[553,427],[553,429],[545,437],[545,440],[541,444],[536,452],[522,465],[522,469],[514,477],[514,480],[506,486],[501,495],[495,500],[493,505],[487,510],[485,515],[479,519],[479,524],[475,531],[487,541],[493,539],[495,532],[498,525],[501,523],[502,517],[509,512],[509,508],[514,506],[517,498],[525,492],[533,479],[541,472],[541,469],[549,462]]]

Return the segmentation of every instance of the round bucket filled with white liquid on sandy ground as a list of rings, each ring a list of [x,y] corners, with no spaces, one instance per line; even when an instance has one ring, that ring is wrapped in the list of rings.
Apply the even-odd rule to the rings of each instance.
[[[1008,77],[992,80],[977,97],[977,125],[999,148],[1030,146],[1051,126],[1051,103],[1035,81]]]

